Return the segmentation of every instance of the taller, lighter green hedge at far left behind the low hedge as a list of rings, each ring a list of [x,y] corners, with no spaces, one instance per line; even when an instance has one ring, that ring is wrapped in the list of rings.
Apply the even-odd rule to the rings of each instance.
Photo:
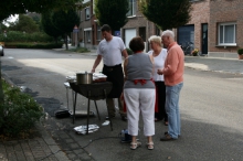
[[[23,33],[9,31],[7,36],[0,34],[0,42],[53,42],[53,37],[43,32]]]

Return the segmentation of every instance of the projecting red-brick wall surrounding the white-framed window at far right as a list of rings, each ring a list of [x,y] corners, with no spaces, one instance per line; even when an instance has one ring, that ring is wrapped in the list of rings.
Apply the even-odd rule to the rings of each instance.
[[[243,47],[243,0],[211,0],[210,2],[210,31],[209,51],[211,53],[236,53],[237,47]],[[218,45],[218,24],[222,22],[236,22],[236,45]],[[235,54],[235,56],[237,56]]]

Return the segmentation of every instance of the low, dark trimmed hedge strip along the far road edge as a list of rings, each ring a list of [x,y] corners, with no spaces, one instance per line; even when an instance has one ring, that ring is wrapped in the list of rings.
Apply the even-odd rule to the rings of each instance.
[[[62,49],[63,43],[20,43],[20,42],[7,42],[4,45],[14,49]]]

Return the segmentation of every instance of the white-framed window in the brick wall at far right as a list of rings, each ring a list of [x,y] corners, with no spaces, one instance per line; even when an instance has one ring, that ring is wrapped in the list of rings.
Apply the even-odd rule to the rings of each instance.
[[[236,45],[236,23],[220,23],[218,31],[219,45]]]

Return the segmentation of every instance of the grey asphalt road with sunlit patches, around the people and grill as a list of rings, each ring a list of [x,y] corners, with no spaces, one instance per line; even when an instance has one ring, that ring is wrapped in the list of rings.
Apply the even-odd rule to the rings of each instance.
[[[18,86],[25,86],[45,111],[53,116],[60,107],[66,107],[65,77],[78,71],[91,71],[95,56],[81,55],[51,50],[10,50],[1,57],[2,72]],[[202,62],[201,62],[202,63]],[[102,69],[98,66],[97,72]],[[97,117],[91,124],[99,126],[98,131],[88,136],[76,135],[74,127],[85,125],[85,118],[51,117],[65,131],[66,140],[73,139],[73,148],[85,147],[85,151],[98,161],[128,160],[243,160],[243,75],[205,72],[186,68],[184,85],[180,97],[181,137],[177,141],[161,142],[159,138],[167,130],[163,124],[156,122],[154,137],[155,150],[146,149],[146,139],[140,124],[141,148],[131,151],[129,144],[120,143],[117,138],[126,122],[117,117],[114,130],[102,126],[107,116],[104,100],[97,101],[102,120]],[[70,93],[71,94],[71,93]],[[78,109],[85,110],[87,99],[78,96]],[[94,103],[92,110],[95,112]],[[71,105],[70,105],[71,106]],[[50,125],[51,126],[51,125]],[[56,140],[59,135],[53,129]],[[88,144],[89,143],[89,144]],[[60,140],[62,147],[62,140]],[[86,147],[87,146],[87,147]],[[65,147],[62,147],[65,149]]]

